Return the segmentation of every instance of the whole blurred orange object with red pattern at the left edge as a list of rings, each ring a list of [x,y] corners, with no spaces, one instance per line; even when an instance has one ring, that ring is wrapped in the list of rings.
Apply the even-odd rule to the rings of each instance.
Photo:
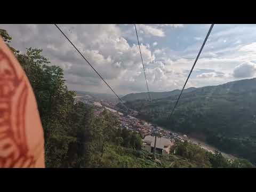
[[[0,167],[45,167],[43,128],[34,92],[1,37]]]

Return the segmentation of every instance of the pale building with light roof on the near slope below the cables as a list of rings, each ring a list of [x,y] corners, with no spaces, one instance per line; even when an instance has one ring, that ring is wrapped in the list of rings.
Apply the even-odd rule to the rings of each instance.
[[[155,137],[147,135],[143,140],[143,149],[153,153]],[[174,145],[174,141],[170,141],[166,138],[156,137],[156,153],[158,154],[169,154],[171,146]]]

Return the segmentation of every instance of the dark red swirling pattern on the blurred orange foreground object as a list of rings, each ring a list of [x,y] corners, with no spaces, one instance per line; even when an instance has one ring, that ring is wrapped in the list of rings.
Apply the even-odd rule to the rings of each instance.
[[[0,167],[35,166],[26,139],[27,96],[25,79],[18,77],[13,63],[0,49]]]

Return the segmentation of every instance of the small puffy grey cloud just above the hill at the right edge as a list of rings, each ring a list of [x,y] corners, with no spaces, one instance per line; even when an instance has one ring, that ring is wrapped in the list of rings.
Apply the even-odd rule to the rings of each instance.
[[[245,62],[235,67],[233,76],[236,78],[252,77],[256,72],[256,63]]]

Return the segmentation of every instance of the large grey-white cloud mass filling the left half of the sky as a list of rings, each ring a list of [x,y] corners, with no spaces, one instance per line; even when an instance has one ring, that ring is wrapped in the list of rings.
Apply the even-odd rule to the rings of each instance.
[[[125,86],[119,90],[117,87],[126,76],[131,77],[131,81],[141,71],[141,58],[139,46],[129,45],[119,27],[116,25],[59,25],[59,27],[117,93],[129,91]],[[25,47],[43,49],[43,55],[49,58],[53,65],[59,65],[64,69],[69,89],[90,89],[92,92],[108,90],[54,26],[5,25],[2,27],[1,25],[0,28],[7,29],[13,37],[12,46],[18,50],[24,51]],[[33,33],[30,33],[32,30]],[[141,44],[141,53],[145,66],[155,60],[148,43]]]

